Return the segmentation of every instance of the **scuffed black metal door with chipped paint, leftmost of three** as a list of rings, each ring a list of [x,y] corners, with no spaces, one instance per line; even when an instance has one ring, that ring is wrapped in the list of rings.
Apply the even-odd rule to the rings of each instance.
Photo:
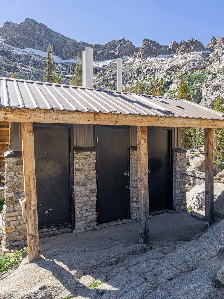
[[[39,231],[72,228],[71,127],[34,125]]]

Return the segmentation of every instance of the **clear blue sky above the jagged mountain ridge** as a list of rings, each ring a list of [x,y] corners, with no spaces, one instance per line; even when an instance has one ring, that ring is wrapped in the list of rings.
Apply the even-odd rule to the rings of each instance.
[[[223,0],[0,0],[0,10],[0,27],[28,17],[92,44],[124,37],[139,47],[145,38],[163,45],[196,38],[206,47],[212,36],[224,36]]]

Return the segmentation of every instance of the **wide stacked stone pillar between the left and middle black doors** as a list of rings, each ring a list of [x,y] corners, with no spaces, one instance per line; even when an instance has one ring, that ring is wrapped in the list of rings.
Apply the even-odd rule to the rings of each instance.
[[[96,152],[75,152],[75,230],[96,226]]]

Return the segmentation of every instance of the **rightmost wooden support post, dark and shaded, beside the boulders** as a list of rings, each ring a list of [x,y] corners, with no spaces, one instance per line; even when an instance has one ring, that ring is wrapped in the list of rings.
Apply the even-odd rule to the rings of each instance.
[[[205,222],[214,223],[213,129],[205,129]]]

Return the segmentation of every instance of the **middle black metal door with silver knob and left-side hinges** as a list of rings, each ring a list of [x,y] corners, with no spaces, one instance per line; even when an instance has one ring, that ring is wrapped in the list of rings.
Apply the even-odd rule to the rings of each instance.
[[[128,128],[96,126],[97,222],[129,216]]]

